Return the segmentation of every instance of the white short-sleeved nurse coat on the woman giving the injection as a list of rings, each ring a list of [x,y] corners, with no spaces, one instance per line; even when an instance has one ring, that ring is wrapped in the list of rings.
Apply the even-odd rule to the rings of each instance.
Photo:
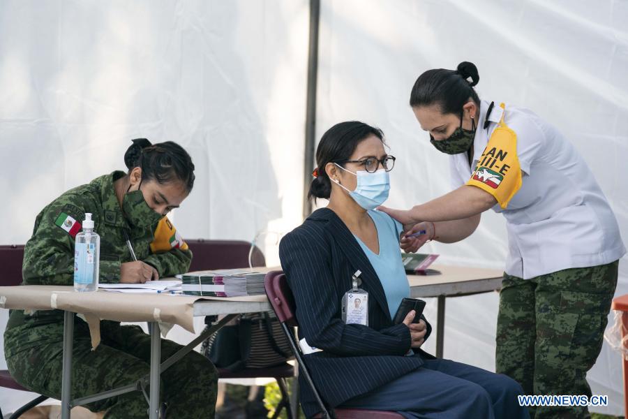
[[[493,207],[507,221],[506,273],[530,279],[621,258],[626,249],[615,215],[574,146],[530,110],[510,105],[504,111],[495,103],[484,128],[488,107],[481,101],[472,164],[467,153],[451,156],[451,184],[457,189],[468,182],[504,112],[522,172],[521,189],[507,207]]]

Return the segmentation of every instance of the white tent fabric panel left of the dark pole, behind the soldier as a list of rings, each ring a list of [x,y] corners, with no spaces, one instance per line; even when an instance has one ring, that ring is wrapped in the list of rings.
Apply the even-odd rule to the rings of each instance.
[[[26,242],[52,199],[125,169],[137,137],[193,157],[193,193],[172,216],[184,237],[299,224],[307,34],[306,0],[1,2],[0,242]],[[259,242],[278,265],[265,241],[276,235]],[[0,390],[5,412],[26,399]]]

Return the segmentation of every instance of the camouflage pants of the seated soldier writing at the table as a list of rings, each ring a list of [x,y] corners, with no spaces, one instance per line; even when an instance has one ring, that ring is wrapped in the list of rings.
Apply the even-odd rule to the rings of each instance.
[[[61,324],[61,330],[63,325]],[[41,326],[58,327],[57,324]],[[17,330],[12,330],[17,332]],[[151,337],[138,326],[102,322],[102,342],[91,350],[87,325],[75,328],[71,397],[84,397],[132,384],[149,374]],[[32,328],[29,332],[32,332]],[[162,362],[182,346],[161,339]],[[34,392],[61,398],[63,342],[47,343],[9,356],[8,369],[15,380]],[[218,376],[214,365],[191,351],[161,374],[161,401],[167,418],[214,418]],[[147,392],[148,392],[147,388]],[[148,418],[148,403],[140,391],[128,392],[87,404],[91,411],[107,411],[106,419]]]

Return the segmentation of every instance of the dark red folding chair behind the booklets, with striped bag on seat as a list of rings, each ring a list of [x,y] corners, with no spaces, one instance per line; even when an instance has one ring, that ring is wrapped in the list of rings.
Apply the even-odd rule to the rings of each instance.
[[[190,271],[236,269],[248,267],[249,258],[252,266],[265,266],[264,253],[257,248],[251,249],[251,243],[238,240],[186,240],[193,253]],[[281,401],[275,409],[273,418],[277,418],[285,408],[292,419],[290,397],[287,392],[286,378],[294,377],[294,367],[290,364],[269,368],[245,368],[236,372],[218,368],[218,378],[274,378],[281,392]]]

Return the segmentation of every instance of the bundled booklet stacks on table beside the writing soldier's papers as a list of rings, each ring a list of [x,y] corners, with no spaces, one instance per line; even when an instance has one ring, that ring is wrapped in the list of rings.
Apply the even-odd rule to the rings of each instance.
[[[250,270],[214,270],[181,275],[186,295],[241,297],[264,294],[265,274]]]

